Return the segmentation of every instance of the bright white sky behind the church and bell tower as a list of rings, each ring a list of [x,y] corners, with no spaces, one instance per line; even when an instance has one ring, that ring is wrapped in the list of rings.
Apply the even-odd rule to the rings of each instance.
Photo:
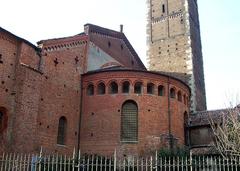
[[[240,103],[240,1],[198,0],[207,107]],[[86,23],[124,33],[147,66],[146,0],[5,0],[0,27],[33,44],[76,35]]]

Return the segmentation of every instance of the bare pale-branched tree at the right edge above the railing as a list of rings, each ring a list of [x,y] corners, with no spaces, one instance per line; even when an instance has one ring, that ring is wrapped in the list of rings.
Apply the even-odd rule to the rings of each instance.
[[[240,106],[223,110],[219,117],[216,122],[209,115],[216,149],[224,158],[240,157]]]

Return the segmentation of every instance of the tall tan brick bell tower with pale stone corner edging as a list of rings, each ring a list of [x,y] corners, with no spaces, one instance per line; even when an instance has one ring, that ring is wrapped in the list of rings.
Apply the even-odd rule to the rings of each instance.
[[[191,88],[191,111],[206,110],[197,0],[148,0],[149,70],[181,76]]]

